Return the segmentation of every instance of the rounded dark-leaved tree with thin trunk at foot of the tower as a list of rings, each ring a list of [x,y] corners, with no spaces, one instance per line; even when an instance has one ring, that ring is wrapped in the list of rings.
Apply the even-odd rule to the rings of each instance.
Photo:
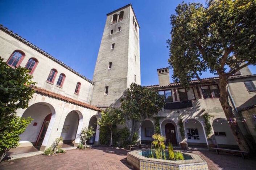
[[[136,122],[140,122],[141,125],[146,117],[150,118],[157,114],[165,105],[164,97],[158,95],[157,90],[135,83],[131,84],[120,101],[123,117],[132,120],[131,137],[139,130],[136,130]]]

